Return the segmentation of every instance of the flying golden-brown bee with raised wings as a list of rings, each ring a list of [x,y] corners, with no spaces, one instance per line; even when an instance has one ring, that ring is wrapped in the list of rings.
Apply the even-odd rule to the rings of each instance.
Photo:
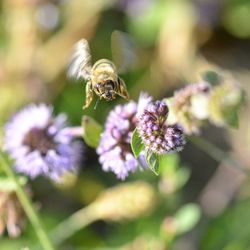
[[[127,41],[128,38],[124,33],[119,31],[112,33],[111,43],[113,48],[117,48],[119,43],[128,44]],[[131,60],[134,60],[134,58],[127,45],[124,46],[122,52],[113,52],[113,59],[117,59],[117,64],[120,64],[119,68],[122,71],[124,64],[122,65],[122,60],[120,60],[121,54],[126,55],[127,64],[132,63]],[[119,77],[118,69],[112,61],[100,59],[92,66],[89,44],[85,39],[78,41],[74,47],[68,75],[86,81],[86,101],[83,109],[89,107],[94,93],[100,99],[103,98],[107,101],[114,100],[117,95],[126,100],[129,99],[125,82]]]

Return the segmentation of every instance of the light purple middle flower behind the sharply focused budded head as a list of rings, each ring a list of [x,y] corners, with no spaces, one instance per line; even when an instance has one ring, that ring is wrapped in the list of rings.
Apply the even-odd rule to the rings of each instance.
[[[137,169],[138,162],[133,156],[130,140],[136,128],[136,114],[149,101],[151,97],[142,94],[138,105],[133,101],[118,105],[106,120],[97,153],[103,170],[114,172],[119,179],[124,180],[129,172]]]

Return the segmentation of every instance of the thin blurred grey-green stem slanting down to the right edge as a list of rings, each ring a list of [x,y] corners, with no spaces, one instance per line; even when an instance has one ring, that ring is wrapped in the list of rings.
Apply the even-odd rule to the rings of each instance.
[[[244,174],[249,175],[244,167],[239,164],[239,161],[236,160],[232,155],[227,152],[224,152],[213,143],[201,138],[201,137],[188,137],[188,139],[195,144],[198,148],[207,153],[214,160],[221,162],[227,162],[229,166],[233,166],[234,169],[241,171]],[[236,167],[236,168],[235,168]]]

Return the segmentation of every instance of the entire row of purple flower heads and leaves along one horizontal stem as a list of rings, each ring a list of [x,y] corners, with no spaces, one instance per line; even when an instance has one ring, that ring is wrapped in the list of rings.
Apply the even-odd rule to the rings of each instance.
[[[74,138],[83,136],[88,146],[96,148],[102,169],[118,179],[124,180],[140,166],[158,174],[160,158],[181,151],[185,134],[200,133],[206,121],[237,124],[241,97],[230,79],[217,84],[205,79],[157,101],[142,92],[138,102],[111,110],[104,128],[88,116],[83,117],[82,128],[70,128],[65,114],[54,116],[51,106],[31,104],[6,124],[4,149],[18,173],[59,181],[67,172],[77,172],[82,150]]]

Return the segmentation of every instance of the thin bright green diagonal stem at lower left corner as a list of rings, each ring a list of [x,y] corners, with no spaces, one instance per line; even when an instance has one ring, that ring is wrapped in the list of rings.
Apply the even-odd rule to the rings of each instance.
[[[54,250],[54,247],[52,246],[48,235],[46,234],[45,229],[43,228],[43,225],[38,218],[38,214],[34,210],[32,203],[29,199],[29,197],[26,195],[25,191],[23,190],[22,186],[19,183],[18,178],[16,177],[15,173],[12,170],[12,167],[5,159],[2,151],[0,151],[0,165],[2,166],[3,170],[5,171],[6,175],[15,183],[16,185],[16,194],[17,197],[22,204],[22,207],[29,218],[32,226],[34,227],[34,230],[37,234],[37,237],[43,246],[44,250]]]

